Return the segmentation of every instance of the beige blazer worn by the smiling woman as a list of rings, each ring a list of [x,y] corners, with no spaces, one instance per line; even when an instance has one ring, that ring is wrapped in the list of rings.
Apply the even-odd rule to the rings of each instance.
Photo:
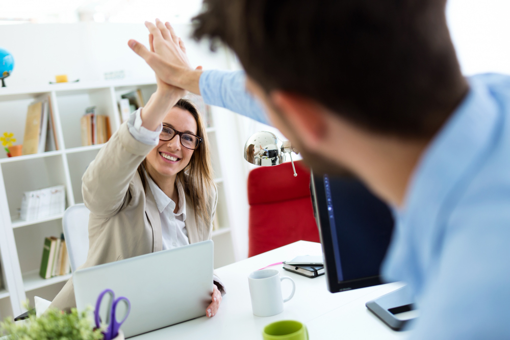
[[[137,171],[154,146],[137,141],[127,123],[111,137],[85,171],[82,181],[83,201],[90,210],[89,251],[80,268],[101,265],[124,258],[162,250],[161,220],[148,185],[143,188]],[[211,195],[214,219],[218,195]],[[212,223],[196,221],[191,199],[186,197],[186,230],[190,244],[210,240]],[[224,294],[224,286],[215,276],[215,284]],[[75,307],[72,278],[67,281],[50,307]]]

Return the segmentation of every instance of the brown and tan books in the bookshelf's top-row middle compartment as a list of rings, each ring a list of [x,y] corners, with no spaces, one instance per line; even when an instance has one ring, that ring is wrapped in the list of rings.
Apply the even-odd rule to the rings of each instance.
[[[112,136],[110,118],[98,115],[95,106],[85,110],[81,119],[81,130],[82,146],[103,144]]]

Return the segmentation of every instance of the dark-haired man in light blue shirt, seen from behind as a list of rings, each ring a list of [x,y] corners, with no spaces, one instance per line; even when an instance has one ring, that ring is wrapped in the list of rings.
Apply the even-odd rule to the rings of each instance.
[[[462,76],[444,6],[208,0],[195,37],[225,42],[247,75],[192,70],[160,21],[152,51],[129,44],[170,85],[265,111],[314,171],[347,168],[393,206],[382,272],[418,301],[412,338],[508,339],[510,77]]]

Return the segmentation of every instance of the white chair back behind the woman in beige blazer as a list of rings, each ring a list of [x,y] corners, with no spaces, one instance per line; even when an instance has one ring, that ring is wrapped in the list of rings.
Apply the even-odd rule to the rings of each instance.
[[[85,204],[75,204],[64,212],[62,226],[71,263],[71,272],[85,263],[89,251],[89,214]]]

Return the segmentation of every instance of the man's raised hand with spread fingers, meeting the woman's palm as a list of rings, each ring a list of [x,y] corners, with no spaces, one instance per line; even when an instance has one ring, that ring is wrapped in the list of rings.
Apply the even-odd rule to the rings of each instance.
[[[128,42],[129,46],[147,62],[160,80],[182,87],[179,77],[183,71],[192,70],[183,41],[177,37],[169,22],[156,19],[156,23],[145,21],[145,26],[152,36],[149,38],[151,50],[133,39]]]

